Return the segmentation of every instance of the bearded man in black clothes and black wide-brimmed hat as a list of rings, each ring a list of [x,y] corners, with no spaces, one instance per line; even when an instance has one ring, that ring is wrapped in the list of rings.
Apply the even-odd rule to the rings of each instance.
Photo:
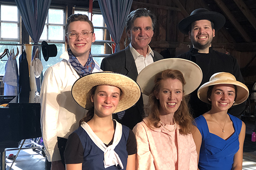
[[[177,57],[189,59],[201,67],[203,72],[201,85],[208,82],[212,74],[217,72],[231,73],[236,77],[236,80],[244,82],[236,58],[212,49],[215,31],[222,28],[225,22],[226,19],[222,14],[198,8],[178,24],[179,30],[183,34],[189,35],[193,46],[190,51]],[[240,118],[245,104],[246,102],[231,107],[228,113]],[[210,109],[209,105],[198,99],[197,90],[191,94],[190,106],[194,117],[198,117]]]

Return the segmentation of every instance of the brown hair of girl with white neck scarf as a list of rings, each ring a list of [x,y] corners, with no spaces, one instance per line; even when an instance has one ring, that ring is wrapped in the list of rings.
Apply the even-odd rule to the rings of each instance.
[[[95,91],[96,91],[97,87],[98,87],[98,85],[91,88],[91,90],[87,94],[87,102],[90,102],[91,105],[93,105],[93,107],[90,108],[89,111],[87,112],[86,116],[79,121],[79,125],[81,125],[82,122],[89,122],[90,119],[93,119],[94,103],[91,101],[91,97],[95,95]],[[119,87],[117,87],[117,88],[119,88]],[[120,101],[120,99],[122,98],[122,90],[120,88],[119,88],[119,90],[120,90],[120,96],[119,96],[119,101]]]

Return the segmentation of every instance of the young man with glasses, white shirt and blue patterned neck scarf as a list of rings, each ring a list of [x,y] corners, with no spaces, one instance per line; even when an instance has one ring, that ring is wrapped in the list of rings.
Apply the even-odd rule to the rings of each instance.
[[[65,40],[69,45],[60,58],[44,74],[41,87],[41,129],[45,153],[52,162],[51,170],[64,170],[61,162],[65,139],[79,127],[87,111],[71,96],[74,82],[84,75],[99,72],[90,48],[95,41],[92,22],[86,15],[73,14],[67,19]]]

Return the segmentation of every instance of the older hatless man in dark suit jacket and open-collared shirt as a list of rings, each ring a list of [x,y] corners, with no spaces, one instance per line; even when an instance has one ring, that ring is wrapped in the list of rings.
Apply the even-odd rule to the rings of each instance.
[[[163,56],[151,50],[148,45],[153,37],[156,22],[155,15],[145,8],[132,11],[126,18],[126,33],[131,43],[124,50],[104,58],[101,69],[125,74],[136,81],[145,66],[163,59]],[[132,129],[142,120],[143,113],[143,99],[140,97],[133,107],[113,115],[113,118]]]

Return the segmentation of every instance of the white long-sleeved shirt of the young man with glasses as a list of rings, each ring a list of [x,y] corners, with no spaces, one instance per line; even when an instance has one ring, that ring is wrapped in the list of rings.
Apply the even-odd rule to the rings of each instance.
[[[67,139],[87,113],[71,95],[71,88],[79,75],[68,62],[67,50],[60,58],[63,58],[61,62],[45,72],[40,93],[41,130],[48,161],[61,160],[57,136]],[[93,73],[101,71],[99,64],[94,62]]]

